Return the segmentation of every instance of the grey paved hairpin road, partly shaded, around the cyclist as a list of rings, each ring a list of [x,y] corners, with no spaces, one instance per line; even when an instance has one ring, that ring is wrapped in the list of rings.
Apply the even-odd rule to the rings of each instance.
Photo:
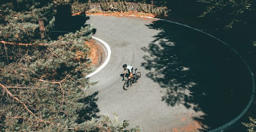
[[[250,75],[218,41],[160,20],[89,17],[93,36],[111,48],[108,65],[90,77],[99,82],[87,91],[97,92],[97,115],[116,112],[143,132],[189,132],[224,125],[247,105]],[[120,76],[124,63],[142,73],[128,91]]]

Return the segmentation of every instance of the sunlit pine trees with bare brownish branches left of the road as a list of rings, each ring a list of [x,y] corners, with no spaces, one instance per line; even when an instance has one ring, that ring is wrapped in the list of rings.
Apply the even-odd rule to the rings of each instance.
[[[0,6],[0,129],[1,131],[89,131],[123,130],[128,121],[94,118],[97,108],[87,112],[94,100],[82,89],[93,72],[86,58],[84,41],[93,27],[59,36],[47,34],[54,27],[57,5],[68,0],[15,0]],[[89,99],[88,99],[89,98]],[[91,98],[91,99],[90,99]],[[84,113],[87,112],[87,113]]]

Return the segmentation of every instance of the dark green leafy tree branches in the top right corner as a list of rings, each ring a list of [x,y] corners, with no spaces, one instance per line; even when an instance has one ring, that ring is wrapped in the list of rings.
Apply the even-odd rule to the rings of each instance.
[[[246,41],[255,46],[256,1],[255,0],[200,0],[207,9],[200,17],[207,17],[220,23],[224,29],[236,28]],[[218,25],[218,26],[219,26]]]

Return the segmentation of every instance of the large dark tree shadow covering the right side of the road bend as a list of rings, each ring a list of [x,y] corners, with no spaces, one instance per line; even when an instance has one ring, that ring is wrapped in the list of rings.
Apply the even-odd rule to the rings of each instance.
[[[142,66],[148,70],[147,77],[166,89],[162,100],[167,105],[183,104],[203,112],[194,119],[209,129],[240,114],[250,100],[252,83],[238,55],[218,40],[184,26],[161,20],[147,26],[159,33],[142,48],[148,54]]]

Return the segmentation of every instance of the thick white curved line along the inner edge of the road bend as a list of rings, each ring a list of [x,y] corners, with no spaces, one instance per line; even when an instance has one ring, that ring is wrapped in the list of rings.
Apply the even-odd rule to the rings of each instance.
[[[93,37],[93,36],[92,36],[92,38],[93,38],[93,39],[96,39],[96,40],[98,40],[99,42],[101,42],[101,43],[104,44],[104,46],[107,48],[107,51],[108,51],[108,57],[107,57],[107,59],[105,60],[105,62],[104,62],[101,66],[99,66],[98,69],[96,69],[93,73],[90,73],[89,75],[87,75],[85,78],[91,77],[91,76],[95,75],[96,73],[98,73],[100,70],[102,70],[102,69],[108,64],[108,61],[110,60],[110,55],[111,55],[111,49],[110,49],[110,47],[108,46],[108,43],[104,42],[103,40],[101,40],[101,39],[99,39],[99,38],[97,38],[97,37]]]

